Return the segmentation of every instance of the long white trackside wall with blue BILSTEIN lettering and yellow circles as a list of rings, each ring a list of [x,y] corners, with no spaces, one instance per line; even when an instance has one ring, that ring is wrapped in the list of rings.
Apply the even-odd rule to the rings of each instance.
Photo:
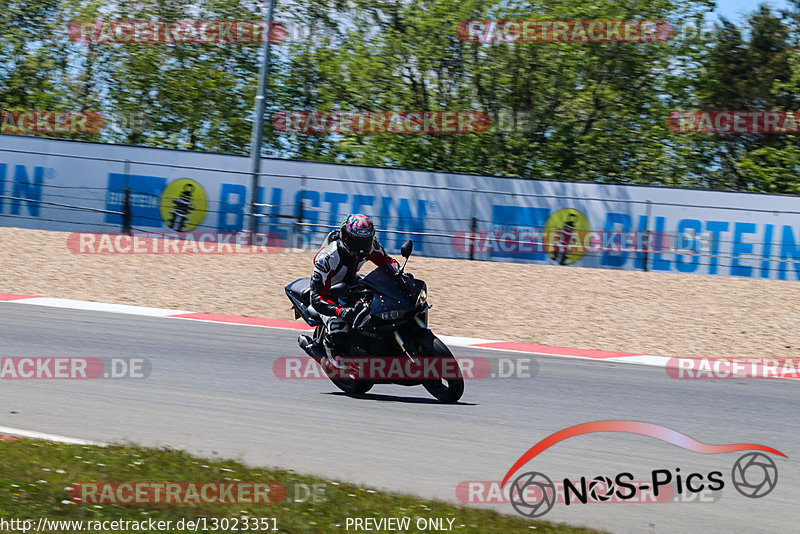
[[[99,148],[98,148],[99,147]],[[258,233],[315,249],[347,213],[390,253],[800,279],[788,195],[521,180],[0,135],[0,225],[85,232]]]

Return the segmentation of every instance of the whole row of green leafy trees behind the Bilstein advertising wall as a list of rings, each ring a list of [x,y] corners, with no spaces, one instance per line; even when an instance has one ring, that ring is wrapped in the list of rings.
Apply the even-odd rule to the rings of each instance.
[[[800,0],[741,24],[701,24],[711,0],[278,2],[265,153],[279,157],[604,183],[796,193],[797,136],[681,134],[675,110],[800,107]],[[0,108],[91,109],[89,139],[247,153],[260,46],[84,44],[79,20],[259,20],[247,0],[9,0]],[[665,43],[481,44],[468,19],[666,20]],[[297,38],[298,34],[301,38]],[[481,134],[287,134],[281,110],[472,110]],[[135,118],[136,120],[131,120]],[[86,138],[84,136],[84,138]]]

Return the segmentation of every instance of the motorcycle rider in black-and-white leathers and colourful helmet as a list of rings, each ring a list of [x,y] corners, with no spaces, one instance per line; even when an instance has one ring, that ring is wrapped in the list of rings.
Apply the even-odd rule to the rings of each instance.
[[[347,333],[357,310],[330,299],[331,286],[355,281],[356,273],[371,261],[377,266],[397,262],[386,254],[375,238],[375,225],[366,215],[348,215],[338,230],[330,232],[314,256],[311,275],[311,306],[325,323],[324,345],[329,363],[342,355]]]

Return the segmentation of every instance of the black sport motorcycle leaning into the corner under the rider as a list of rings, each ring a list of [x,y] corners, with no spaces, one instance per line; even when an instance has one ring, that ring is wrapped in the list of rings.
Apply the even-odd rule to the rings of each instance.
[[[325,325],[310,306],[311,279],[286,286],[295,318],[316,327],[313,339],[300,336],[297,341],[349,395],[366,393],[375,384],[421,385],[441,402],[456,402],[464,394],[464,378],[453,354],[428,328],[431,306],[425,282],[404,272],[412,250],[413,243],[406,241],[400,249],[405,258],[400,269],[383,265],[366,276],[357,275],[351,285],[331,288],[332,299],[358,310],[340,368],[323,363]]]

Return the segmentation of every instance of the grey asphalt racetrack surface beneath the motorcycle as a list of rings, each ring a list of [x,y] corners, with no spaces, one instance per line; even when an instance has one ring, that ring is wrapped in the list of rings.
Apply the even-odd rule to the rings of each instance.
[[[9,303],[0,303],[0,318],[0,357],[143,357],[152,365],[146,379],[3,380],[0,426],[168,445],[456,501],[460,482],[502,479],[529,447],[568,426],[647,421],[704,443],[764,444],[788,459],[773,456],[777,486],[749,499],[731,484],[742,453],[698,454],[626,433],[573,437],[517,474],[628,471],[646,480],[654,469],[719,470],[725,487],[716,502],[556,504],[542,519],[637,533],[792,532],[800,523],[796,381],[674,380],[663,368],[536,357],[537,376],[467,381],[457,405],[397,385],[349,398],[327,380],[273,375],[276,358],[304,355],[297,332]]]

